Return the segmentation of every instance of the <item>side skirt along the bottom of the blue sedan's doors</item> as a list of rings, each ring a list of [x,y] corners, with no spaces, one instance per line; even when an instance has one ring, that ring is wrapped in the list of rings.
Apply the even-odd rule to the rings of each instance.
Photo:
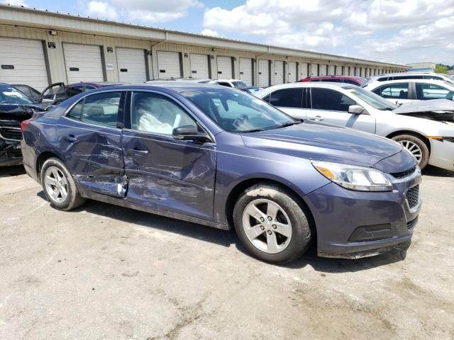
[[[199,225],[206,225],[208,227],[214,227],[216,229],[223,229],[223,230],[230,229],[230,227],[228,227],[228,225],[221,225],[219,223],[201,220],[200,218],[182,215],[177,212],[170,212],[167,210],[160,210],[160,209],[153,209],[153,208],[145,207],[145,205],[132,203],[132,202],[126,200],[125,198],[115,198],[115,197],[111,197],[111,196],[102,195],[101,193],[94,193],[94,192],[89,192],[89,191],[83,191],[83,192],[81,191],[81,195],[84,198],[89,198],[91,200],[99,200],[104,203],[119,205],[124,208],[131,208],[131,209],[135,209],[135,210],[150,212],[151,214],[155,214],[155,215],[175,218],[176,220],[197,223]]]

